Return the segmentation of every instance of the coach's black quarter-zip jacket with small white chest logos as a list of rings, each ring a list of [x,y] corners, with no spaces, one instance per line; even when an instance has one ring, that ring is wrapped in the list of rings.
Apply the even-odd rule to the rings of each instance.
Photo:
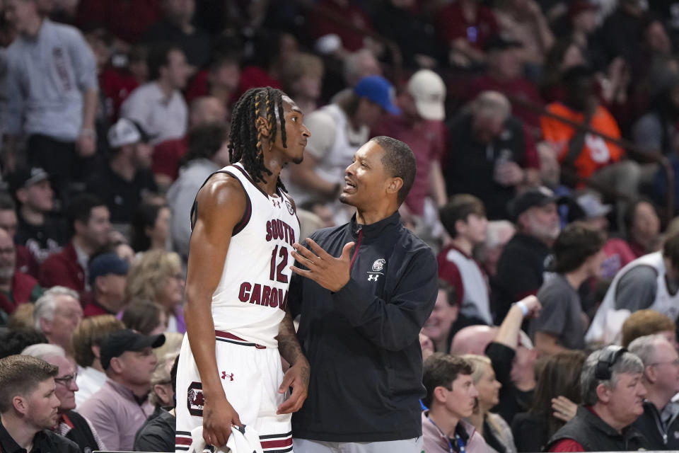
[[[385,442],[422,435],[419,331],[438,293],[429,246],[400,215],[352,222],[311,235],[332,256],[348,242],[351,277],[332,293],[294,275],[289,306],[301,314],[298,339],[311,364],[308,398],[292,418],[294,437]],[[299,266],[299,263],[296,263]]]

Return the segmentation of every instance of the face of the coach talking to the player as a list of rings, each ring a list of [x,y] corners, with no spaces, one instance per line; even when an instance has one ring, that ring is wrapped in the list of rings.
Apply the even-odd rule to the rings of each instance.
[[[376,142],[364,144],[344,174],[340,201],[361,209],[383,200],[392,178],[382,164],[385,151]]]

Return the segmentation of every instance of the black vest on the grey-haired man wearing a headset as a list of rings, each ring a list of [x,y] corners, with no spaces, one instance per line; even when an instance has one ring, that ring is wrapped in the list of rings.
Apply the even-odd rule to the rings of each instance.
[[[559,440],[571,439],[578,442],[586,452],[631,452],[649,449],[648,441],[633,425],[622,430],[622,434],[588,408],[579,406],[575,417],[552,436],[545,451],[548,452]]]

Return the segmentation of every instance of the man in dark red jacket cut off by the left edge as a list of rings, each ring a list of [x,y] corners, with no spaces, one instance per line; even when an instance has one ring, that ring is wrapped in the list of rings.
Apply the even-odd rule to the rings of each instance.
[[[0,324],[19,304],[35,302],[41,295],[37,280],[16,269],[16,248],[8,232],[0,229]]]

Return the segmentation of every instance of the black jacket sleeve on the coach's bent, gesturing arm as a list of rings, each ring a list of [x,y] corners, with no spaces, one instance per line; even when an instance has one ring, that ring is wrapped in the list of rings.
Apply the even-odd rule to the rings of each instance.
[[[335,307],[352,326],[386,350],[402,350],[419,336],[439,292],[437,263],[429,249],[416,253],[388,301],[366,294],[350,279],[332,294]]]

